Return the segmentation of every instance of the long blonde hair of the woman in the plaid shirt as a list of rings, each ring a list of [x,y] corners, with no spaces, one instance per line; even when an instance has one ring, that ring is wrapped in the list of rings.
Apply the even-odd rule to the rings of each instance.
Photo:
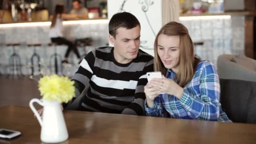
[[[166,75],[167,69],[163,65],[163,62],[157,53],[157,40],[160,34],[168,36],[179,36],[180,38],[178,66],[179,72],[176,74],[174,79],[177,80],[181,87],[184,87],[192,79],[193,75],[195,74],[196,66],[200,62],[200,60],[195,57],[194,45],[189,36],[189,32],[183,24],[171,21],[168,24],[165,24],[157,33],[154,44],[154,68],[155,71],[160,71],[163,75]]]

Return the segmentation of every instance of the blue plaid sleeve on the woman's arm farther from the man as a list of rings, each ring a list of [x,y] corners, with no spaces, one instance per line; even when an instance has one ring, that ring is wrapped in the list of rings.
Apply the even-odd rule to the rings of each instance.
[[[220,113],[220,84],[216,68],[211,62],[207,61],[203,64],[199,80],[201,96],[193,96],[188,89],[184,89],[179,101],[194,118],[217,120]]]

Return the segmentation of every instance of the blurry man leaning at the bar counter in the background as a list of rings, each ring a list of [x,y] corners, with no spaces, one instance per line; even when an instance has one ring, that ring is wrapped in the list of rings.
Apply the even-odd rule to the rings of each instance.
[[[77,14],[78,18],[88,18],[87,8],[82,6],[81,0],[73,0],[73,9],[69,12],[70,14]]]

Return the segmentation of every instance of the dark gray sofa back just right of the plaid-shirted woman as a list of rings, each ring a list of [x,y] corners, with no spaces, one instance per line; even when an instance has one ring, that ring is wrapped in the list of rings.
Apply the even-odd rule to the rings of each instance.
[[[220,79],[221,107],[235,123],[256,123],[256,82]]]

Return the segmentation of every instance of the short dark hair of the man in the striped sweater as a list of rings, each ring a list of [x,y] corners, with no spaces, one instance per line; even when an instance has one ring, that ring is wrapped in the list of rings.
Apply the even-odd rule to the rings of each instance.
[[[137,27],[137,25],[141,27],[139,20],[133,14],[128,12],[116,13],[109,21],[109,34],[115,38],[118,28],[124,27],[126,29],[132,29]]]

